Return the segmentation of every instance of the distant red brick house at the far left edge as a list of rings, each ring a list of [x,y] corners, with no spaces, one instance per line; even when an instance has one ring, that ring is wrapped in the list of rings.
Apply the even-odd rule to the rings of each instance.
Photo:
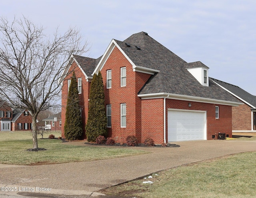
[[[0,131],[32,130],[32,117],[28,110],[12,109],[8,102],[0,101]]]

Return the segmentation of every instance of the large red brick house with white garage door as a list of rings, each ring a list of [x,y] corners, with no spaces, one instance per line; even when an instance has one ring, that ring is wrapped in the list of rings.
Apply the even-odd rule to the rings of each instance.
[[[242,103],[209,80],[208,70],[202,62],[182,60],[146,32],[123,42],[113,39],[98,59],[70,57],[60,79],[62,122],[72,71],[78,79],[83,129],[92,75],[101,71],[108,136],[116,142],[129,135],[139,142],[151,137],[156,144],[212,140],[218,133],[232,137],[232,106]]]

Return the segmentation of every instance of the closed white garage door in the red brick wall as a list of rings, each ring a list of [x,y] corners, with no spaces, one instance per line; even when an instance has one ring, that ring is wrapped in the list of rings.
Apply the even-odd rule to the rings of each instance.
[[[168,142],[206,140],[206,112],[168,110]]]

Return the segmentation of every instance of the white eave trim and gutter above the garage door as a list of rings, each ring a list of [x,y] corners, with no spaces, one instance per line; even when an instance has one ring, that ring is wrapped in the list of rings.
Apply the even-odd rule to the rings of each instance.
[[[223,104],[223,105],[230,105],[230,106],[239,106],[240,104],[243,104],[241,102],[231,102],[226,100],[217,100],[217,99],[211,99],[211,98],[200,98],[196,96],[186,96],[186,95],[180,95],[180,94],[169,94],[169,93],[156,93],[156,94],[138,94],[138,97],[140,97],[142,100],[145,99],[154,99],[154,98],[164,98],[166,96],[169,96],[167,99],[174,99],[174,100],[186,100],[191,102],[204,102],[204,103],[214,103],[214,104]]]

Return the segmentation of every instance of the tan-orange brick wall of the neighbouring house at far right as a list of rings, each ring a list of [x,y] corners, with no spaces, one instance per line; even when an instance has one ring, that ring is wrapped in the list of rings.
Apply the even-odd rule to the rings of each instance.
[[[232,107],[232,129],[252,130],[252,113],[247,104]]]

